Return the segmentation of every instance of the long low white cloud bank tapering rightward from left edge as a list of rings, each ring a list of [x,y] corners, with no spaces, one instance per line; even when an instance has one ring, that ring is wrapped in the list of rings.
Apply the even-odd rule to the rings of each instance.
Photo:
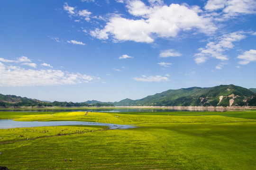
[[[5,66],[0,62],[0,86],[75,85],[88,83],[97,77],[69,73],[61,70],[25,69]]]

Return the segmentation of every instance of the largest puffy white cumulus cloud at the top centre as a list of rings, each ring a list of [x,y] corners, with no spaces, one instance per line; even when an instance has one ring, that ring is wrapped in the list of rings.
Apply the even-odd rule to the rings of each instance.
[[[150,0],[151,6],[146,6],[141,0],[126,2],[128,12],[138,19],[113,15],[103,29],[96,28],[91,31],[91,36],[102,40],[112,36],[114,41],[151,43],[157,37],[175,37],[182,31],[196,29],[199,32],[211,34],[217,29],[210,18],[199,15],[198,8],[179,4],[167,6],[161,0]]]

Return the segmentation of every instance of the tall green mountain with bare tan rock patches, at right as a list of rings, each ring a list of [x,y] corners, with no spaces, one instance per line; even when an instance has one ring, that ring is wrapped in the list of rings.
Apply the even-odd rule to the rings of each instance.
[[[254,93],[236,85],[219,85],[211,88],[190,87],[167,90],[140,100],[125,99],[116,106],[245,106]],[[253,100],[254,97],[252,97]],[[255,105],[254,105],[255,106]]]

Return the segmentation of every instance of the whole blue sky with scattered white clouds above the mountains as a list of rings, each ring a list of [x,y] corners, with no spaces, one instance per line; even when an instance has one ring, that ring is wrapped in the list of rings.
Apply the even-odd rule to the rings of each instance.
[[[0,1],[2,94],[115,102],[255,73],[255,0]]]

